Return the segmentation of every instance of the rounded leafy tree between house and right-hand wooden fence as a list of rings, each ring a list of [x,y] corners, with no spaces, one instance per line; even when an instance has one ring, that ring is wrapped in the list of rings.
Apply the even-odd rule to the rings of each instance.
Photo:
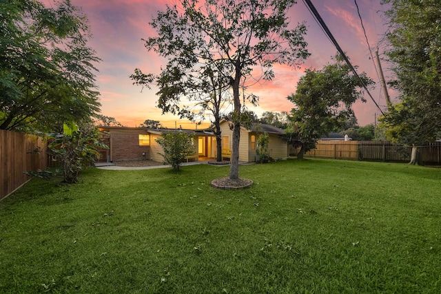
[[[340,54],[334,63],[322,70],[306,70],[297,83],[296,94],[287,99],[296,105],[291,109],[287,137],[295,147],[300,147],[297,157],[314,149],[317,140],[336,127],[341,127],[353,116],[351,105],[362,98],[360,80]],[[359,74],[365,85],[373,83],[365,73]]]

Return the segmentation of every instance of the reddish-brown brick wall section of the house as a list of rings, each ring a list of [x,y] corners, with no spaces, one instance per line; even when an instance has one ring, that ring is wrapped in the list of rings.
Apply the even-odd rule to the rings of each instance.
[[[150,159],[150,146],[139,146],[138,134],[112,134],[110,140],[113,161]]]

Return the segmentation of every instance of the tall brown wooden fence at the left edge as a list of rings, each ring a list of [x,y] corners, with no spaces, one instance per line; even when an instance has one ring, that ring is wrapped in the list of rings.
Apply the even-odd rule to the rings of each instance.
[[[46,149],[39,136],[0,129],[0,200],[30,179],[23,171],[48,167]]]

